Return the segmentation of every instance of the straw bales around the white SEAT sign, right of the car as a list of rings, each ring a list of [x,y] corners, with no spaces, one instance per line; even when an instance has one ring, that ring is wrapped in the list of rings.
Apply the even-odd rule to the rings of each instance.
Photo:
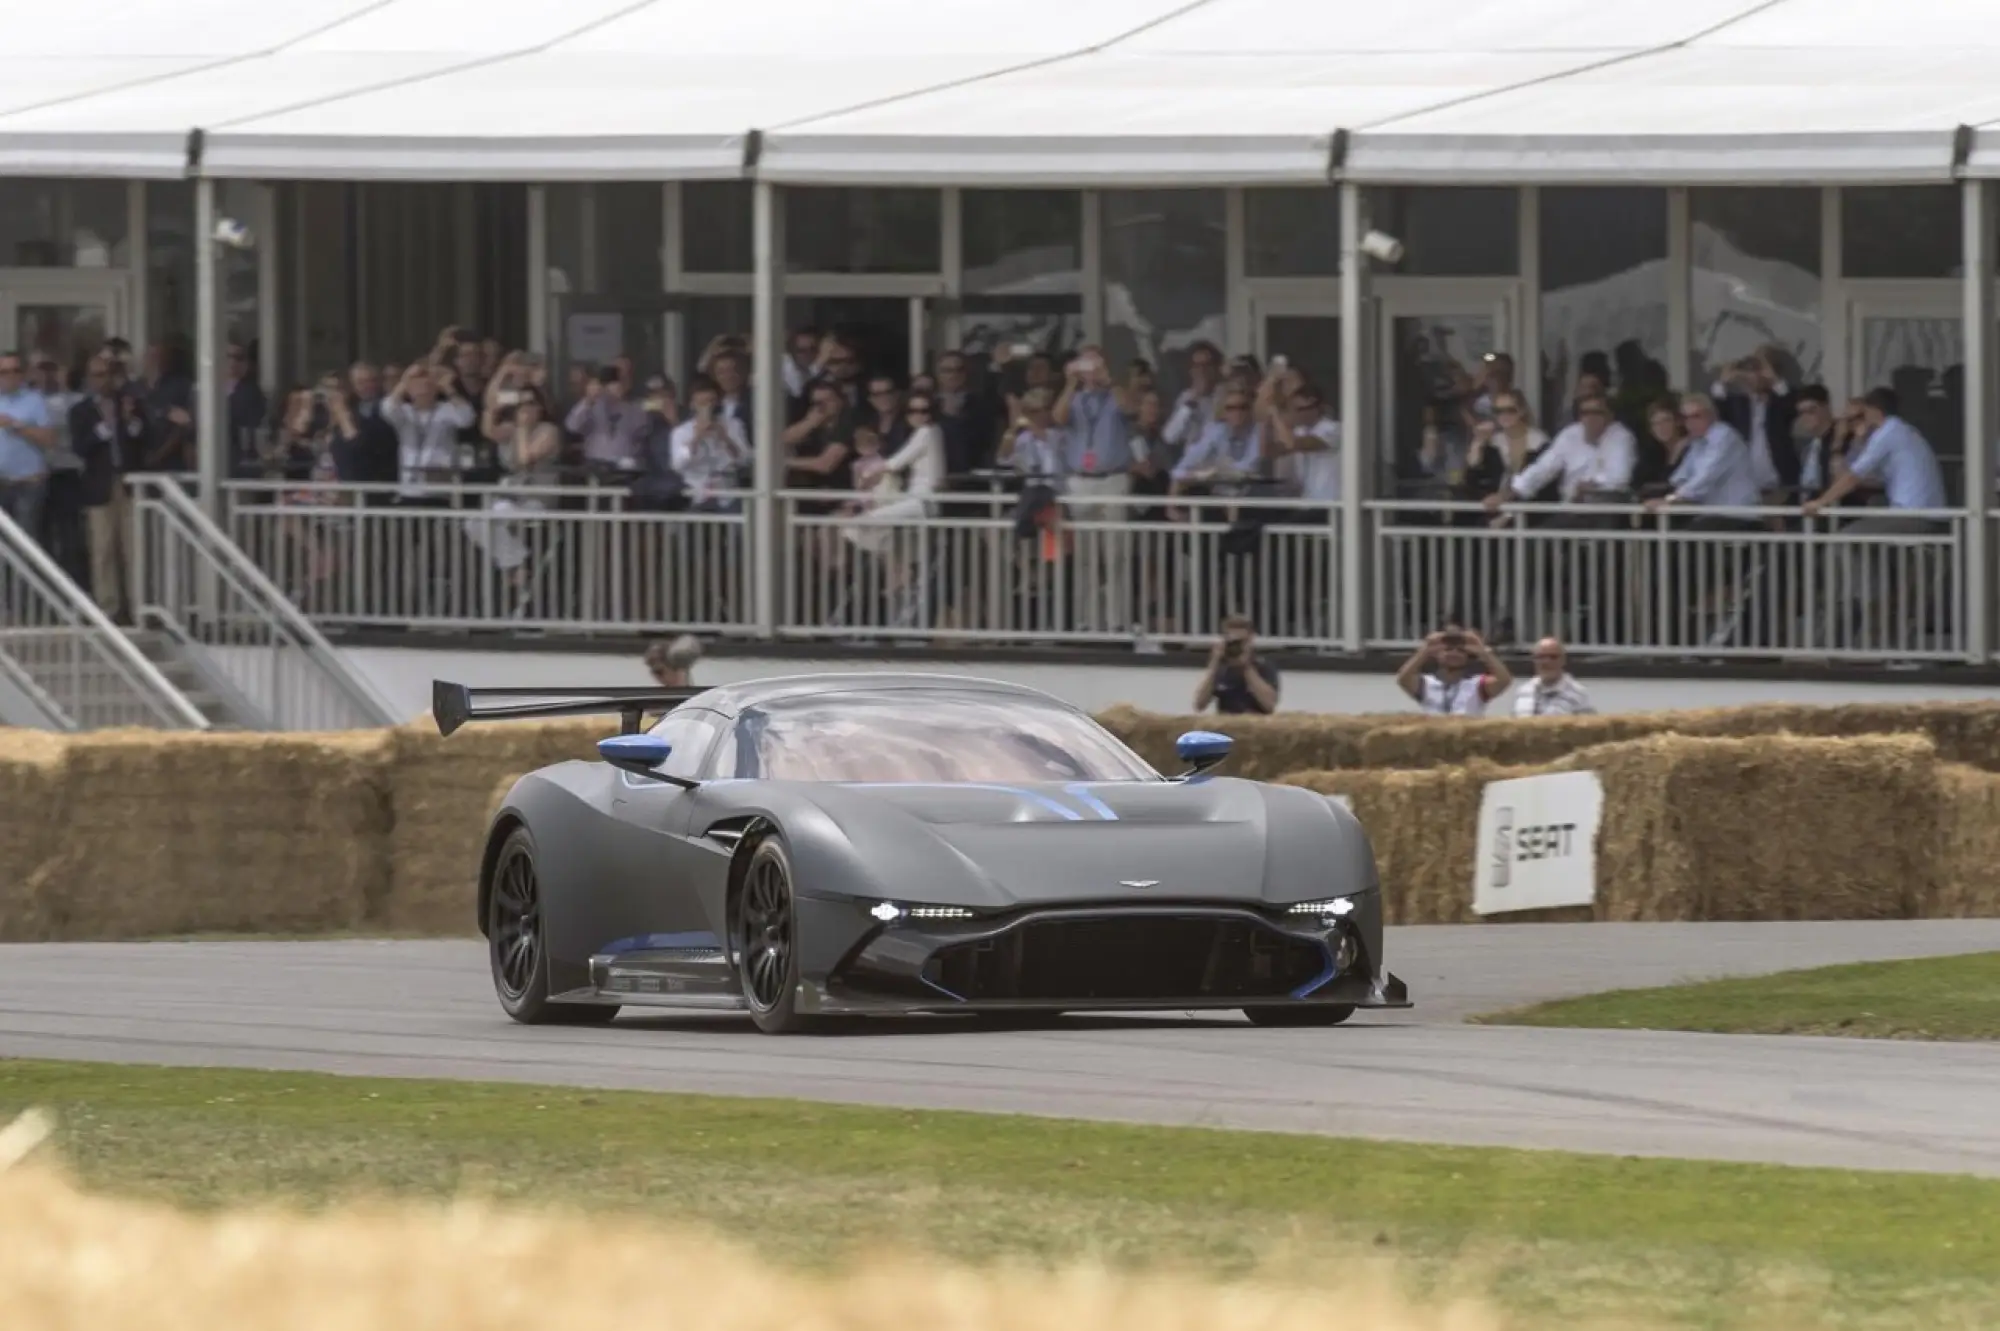
[[[1468,923],[1486,783],[1556,771],[1604,781],[1596,905],[1502,919],[1898,919],[1944,895],[1938,761],[1922,735],[1650,735],[1534,767],[1300,771],[1286,783],[1354,801],[1392,923]]]

